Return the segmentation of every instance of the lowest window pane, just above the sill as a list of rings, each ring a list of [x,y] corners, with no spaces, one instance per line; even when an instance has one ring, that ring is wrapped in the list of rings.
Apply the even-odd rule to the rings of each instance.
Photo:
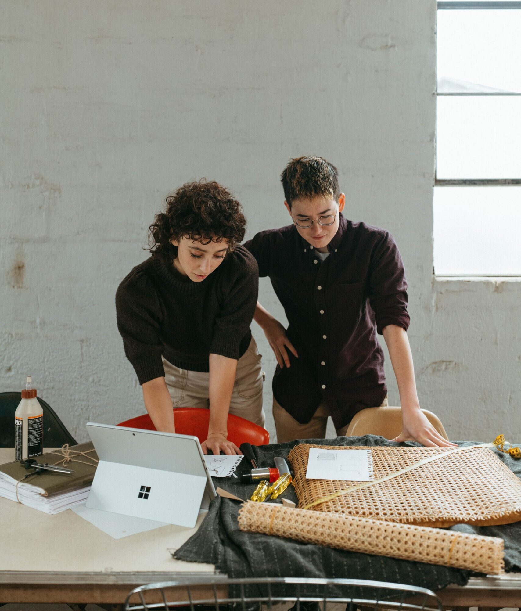
[[[521,276],[521,187],[436,187],[437,276]]]

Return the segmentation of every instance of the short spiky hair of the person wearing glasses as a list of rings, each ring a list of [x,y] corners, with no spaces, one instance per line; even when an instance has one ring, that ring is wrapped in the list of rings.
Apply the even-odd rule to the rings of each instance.
[[[282,187],[286,202],[316,196],[330,196],[338,200],[338,170],[322,157],[297,157],[284,168]]]

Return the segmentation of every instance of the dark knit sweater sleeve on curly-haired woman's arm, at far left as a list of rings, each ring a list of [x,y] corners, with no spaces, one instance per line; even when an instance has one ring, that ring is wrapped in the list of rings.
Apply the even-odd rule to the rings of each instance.
[[[117,326],[139,384],[164,376],[158,296],[144,274],[129,274],[116,291]]]

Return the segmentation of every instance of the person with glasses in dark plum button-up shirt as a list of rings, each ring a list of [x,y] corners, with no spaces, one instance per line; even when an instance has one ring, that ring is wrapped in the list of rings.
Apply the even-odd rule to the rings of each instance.
[[[332,417],[346,433],[362,409],[387,405],[384,335],[398,382],[403,430],[394,441],[453,445],[420,409],[407,339],[407,282],[393,236],[344,218],[338,172],[321,157],[291,159],[282,172],[291,225],[244,246],[282,303],[288,328],[257,303],[255,321],[277,357],[277,442],[321,438]]]

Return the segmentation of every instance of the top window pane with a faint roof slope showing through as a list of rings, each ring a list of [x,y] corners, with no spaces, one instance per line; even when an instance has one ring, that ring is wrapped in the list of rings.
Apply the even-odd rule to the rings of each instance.
[[[521,10],[439,10],[438,92],[521,92]]]

